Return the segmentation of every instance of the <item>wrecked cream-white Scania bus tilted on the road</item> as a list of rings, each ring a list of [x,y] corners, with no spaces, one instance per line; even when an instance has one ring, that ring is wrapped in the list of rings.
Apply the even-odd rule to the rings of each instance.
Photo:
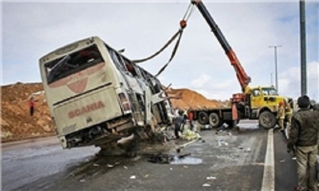
[[[97,36],[52,51],[39,63],[63,148],[101,146],[170,121],[160,81]]]

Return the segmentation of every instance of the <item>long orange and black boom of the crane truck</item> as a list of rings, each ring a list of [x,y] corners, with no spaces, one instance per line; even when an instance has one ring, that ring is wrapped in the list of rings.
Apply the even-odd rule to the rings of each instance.
[[[212,32],[214,32],[215,36],[217,37],[218,42],[223,47],[229,61],[235,69],[237,79],[242,88],[242,91],[244,92],[245,88],[251,82],[251,78],[246,74],[244,68],[241,66],[239,60],[237,59],[234,50],[231,46],[229,46],[227,40],[225,39],[225,36],[219,29],[218,25],[215,23],[214,19],[211,17],[203,2],[201,0],[191,0],[191,3],[197,6],[199,11],[205,18],[207,24],[210,26]]]

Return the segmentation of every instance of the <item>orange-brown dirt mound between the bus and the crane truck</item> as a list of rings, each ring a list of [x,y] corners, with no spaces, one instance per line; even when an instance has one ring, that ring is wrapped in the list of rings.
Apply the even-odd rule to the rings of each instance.
[[[179,98],[170,99],[173,108],[221,108],[223,104],[216,100],[208,100],[202,94],[190,89],[172,89],[166,90],[169,97]]]

